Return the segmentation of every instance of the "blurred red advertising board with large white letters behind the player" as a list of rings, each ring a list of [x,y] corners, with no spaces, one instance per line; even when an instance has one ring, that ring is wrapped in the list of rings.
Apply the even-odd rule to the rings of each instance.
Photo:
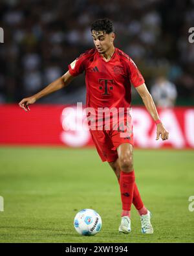
[[[92,146],[84,108],[34,104],[25,112],[16,104],[0,105],[1,145]],[[194,148],[194,108],[158,109],[169,131],[167,141],[156,141],[156,125],[144,107],[133,107],[133,133],[138,148]]]

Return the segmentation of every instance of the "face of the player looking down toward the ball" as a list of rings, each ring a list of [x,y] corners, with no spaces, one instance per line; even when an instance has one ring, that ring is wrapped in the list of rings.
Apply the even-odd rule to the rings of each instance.
[[[97,51],[103,54],[113,46],[114,33],[106,34],[104,31],[92,30],[92,38]]]

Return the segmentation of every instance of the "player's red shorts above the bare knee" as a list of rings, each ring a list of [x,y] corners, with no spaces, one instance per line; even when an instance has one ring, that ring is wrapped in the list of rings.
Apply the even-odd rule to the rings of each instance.
[[[130,129],[90,130],[92,140],[102,161],[113,162],[118,158],[117,148],[123,143],[133,145],[133,125]]]

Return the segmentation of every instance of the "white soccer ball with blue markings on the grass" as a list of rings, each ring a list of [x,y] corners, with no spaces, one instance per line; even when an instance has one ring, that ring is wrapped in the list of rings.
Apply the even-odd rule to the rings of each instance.
[[[83,209],[76,214],[74,227],[80,235],[96,235],[102,227],[102,219],[96,211]]]

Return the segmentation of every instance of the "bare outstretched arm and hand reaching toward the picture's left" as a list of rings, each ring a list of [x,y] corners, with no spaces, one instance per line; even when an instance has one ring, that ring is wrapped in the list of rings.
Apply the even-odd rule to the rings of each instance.
[[[48,84],[47,87],[45,87],[35,95],[32,95],[31,97],[21,100],[21,102],[19,102],[20,108],[23,108],[23,110],[25,111],[30,110],[30,104],[33,104],[36,102],[36,100],[45,97],[50,93],[54,93],[54,91],[58,91],[59,89],[62,89],[63,87],[67,86],[73,80],[73,78],[74,76],[70,75],[69,71],[67,71],[65,75],[59,77],[51,84]]]

